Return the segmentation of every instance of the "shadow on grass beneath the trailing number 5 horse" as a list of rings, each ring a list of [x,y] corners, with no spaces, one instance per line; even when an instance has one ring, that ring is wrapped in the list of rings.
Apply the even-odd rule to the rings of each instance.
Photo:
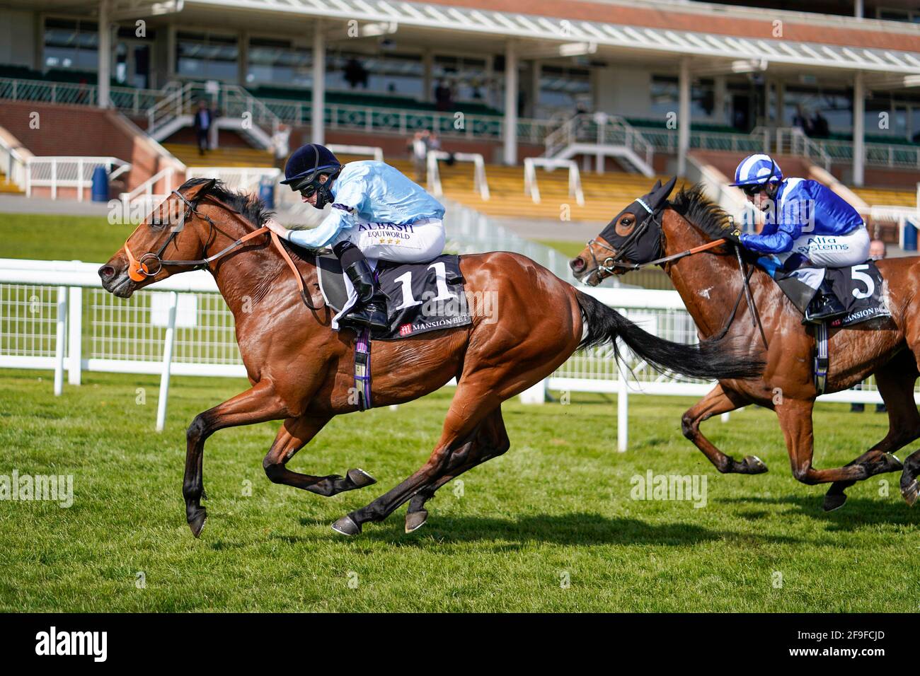
[[[896,490],[896,488],[894,489]],[[720,503],[739,504],[745,503],[763,505],[788,505],[812,519],[820,519],[833,524],[831,530],[853,531],[866,526],[891,525],[914,526],[920,521],[920,511],[911,510],[901,499],[884,498],[879,500],[868,498],[848,498],[839,510],[824,511],[822,509],[823,496],[783,496],[777,498],[719,498],[710,501],[713,507]],[[767,516],[776,516],[783,512],[770,510],[751,510],[739,512],[745,519],[761,519]]]

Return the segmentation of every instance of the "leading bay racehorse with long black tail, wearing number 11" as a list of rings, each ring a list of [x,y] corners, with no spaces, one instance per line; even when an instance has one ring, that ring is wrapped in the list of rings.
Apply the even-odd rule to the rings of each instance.
[[[357,469],[322,476],[286,467],[330,418],[358,410],[351,393],[356,336],[329,326],[333,313],[319,292],[316,252],[282,244],[263,225],[269,215],[255,198],[229,192],[213,179],[193,178],[98,270],[107,291],[128,298],[172,273],[206,268],[236,320],[236,341],[252,386],[196,416],[187,431],[182,494],[196,537],[207,516],[201,506],[204,442],[216,430],[283,419],[262,462],[275,483],[332,496],[375,481]],[[753,376],[763,367],[755,359],[737,358],[738,350],[725,341],[689,346],[651,336],[517,254],[463,256],[460,269],[467,292],[495,292],[496,317],[475,316],[467,327],[374,341],[375,406],[410,401],[456,378],[441,439],[417,472],[336,521],[339,533],[360,533],[362,523],[382,521],[407,500],[407,532],[419,528],[428,517],[425,502],[439,487],[508,450],[501,402],[546,378],[580,346],[622,338],[643,359],[698,377]]]

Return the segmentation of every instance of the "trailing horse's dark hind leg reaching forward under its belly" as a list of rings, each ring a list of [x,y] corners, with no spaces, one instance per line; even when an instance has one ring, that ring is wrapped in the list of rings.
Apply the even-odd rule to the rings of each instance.
[[[918,374],[914,355],[906,349],[875,372],[879,394],[888,408],[888,434],[847,466],[881,461],[891,464],[890,472],[901,469],[897,458],[893,455],[885,458],[884,455],[894,453],[920,437],[920,413],[914,403],[914,383]],[[824,496],[824,510],[835,510],[843,505],[846,501],[845,489],[855,483],[852,480],[835,481]]]

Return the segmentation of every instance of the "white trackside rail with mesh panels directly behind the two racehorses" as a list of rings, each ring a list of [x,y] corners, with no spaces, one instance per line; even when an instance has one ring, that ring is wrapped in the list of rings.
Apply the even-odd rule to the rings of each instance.
[[[80,384],[83,371],[160,375],[156,429],[166,420],[169,375],[246,375],[233,315],[210,274],[187,272],[121,300],[100,288],[98,264],[0,259],[0,368],[63,373]],[[661,338],[695,343],[696,327],[677,292],[584,289]],[[628,396],[700,396],[711,383],[673,377],[628,354],[635,378],[621,377],[609,347],[576,354],[533,388],[619,395],[618,447],[627,448]],[[531,392],[533,394],[533,392]],[[914,395],[920,402],[920,396]],[[542,401],[542,397],[540,399]],[[875,386],[824,395],[822,401],[880,403]]]

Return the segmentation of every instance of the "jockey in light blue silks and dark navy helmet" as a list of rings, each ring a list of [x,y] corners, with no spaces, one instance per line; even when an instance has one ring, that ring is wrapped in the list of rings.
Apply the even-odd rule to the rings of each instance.
[[[342,319],[385,331],[386,301],[368,258],[420,263],[441,255],[444,208],[418,184],[383,162],[364,160],[342,166],[325,146],[308,143],[288,158],[283,185],[326,218],[312,230],[288,230],[267,223],[293,244],[329,246],[357,294],[355,309]]]

